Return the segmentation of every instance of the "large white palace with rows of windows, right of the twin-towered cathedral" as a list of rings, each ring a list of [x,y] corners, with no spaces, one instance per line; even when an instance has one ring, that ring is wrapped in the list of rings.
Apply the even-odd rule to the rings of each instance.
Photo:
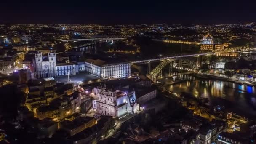
[[[131,76],[131,64],[129,62],[107,64],[99,59],[87,59],[85,71],[101,78],[127,78]]]

